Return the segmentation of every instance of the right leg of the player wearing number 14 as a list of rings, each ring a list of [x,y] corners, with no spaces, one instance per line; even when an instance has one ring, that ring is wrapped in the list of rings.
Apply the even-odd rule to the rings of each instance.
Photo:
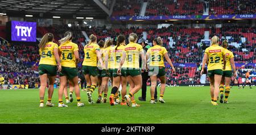
[[[72,78],[72,77],[71,77]],[[81,102],[81,95],[80,95],[80,89],[79,89],[79,78],[77,76],[73,77],[72,79],[70,79],[70,81],[72,83],[69,83],[70,86],[72,86],[72,88],[75,89],[75,94],[76,94],[76,100],[77,100],[77,106],[78,107],[82,107],[84,106],[84,103]]]

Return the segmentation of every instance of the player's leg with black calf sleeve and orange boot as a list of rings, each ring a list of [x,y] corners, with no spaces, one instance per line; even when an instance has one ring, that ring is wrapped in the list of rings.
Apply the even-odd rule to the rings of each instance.
[[[115,102],[114,102],[114,97],[115,97],[115,93],[117,93],[118,88],[120,86],[120,82],[121,82],[121,76],[115,76],[113,77],[113,83],[112,83],[112,89],[111,89],[111,94],[109,97],[109,103],[111,106],[114,106]]]

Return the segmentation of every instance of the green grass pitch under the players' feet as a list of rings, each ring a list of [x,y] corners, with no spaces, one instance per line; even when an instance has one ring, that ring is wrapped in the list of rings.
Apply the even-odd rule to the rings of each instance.
[[[94,101],[96,93],[93,93]],[[148,88],[148,101],[149,94]],[[219,103],[219,106],[209,103],[209,86],[168,87],[165,104],[138,101],[141,107],[137,108],[88,104],[86,93],[81,95],[85,107],[77,107],[76,100],[67,108],[56,107],[55,90],[55,107],[39,108],[38,89],[0,90],[0,123],[256,123],[255,87],[243,90],[235,86],[229,104]],[[138,95],[141,91],[135,95],[136,99]]]

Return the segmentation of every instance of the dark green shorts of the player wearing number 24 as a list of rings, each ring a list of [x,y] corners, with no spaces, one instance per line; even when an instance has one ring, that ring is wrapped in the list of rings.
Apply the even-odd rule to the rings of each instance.
[[[39,75],[43,75],[44,73],[47,73],[47,75],[49,76],[57,75],[57,66],[40,64],[38,69],[39,69]]]

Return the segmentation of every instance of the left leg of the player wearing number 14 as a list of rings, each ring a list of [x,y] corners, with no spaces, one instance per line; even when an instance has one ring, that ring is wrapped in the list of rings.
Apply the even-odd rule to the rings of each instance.
[[[67,105],[65,105],[63,103],[63,91],[64,91],[64,88],[67,86],[67,76],[60,76],[60,88],[59,88],[59,107],[68,107]]]

